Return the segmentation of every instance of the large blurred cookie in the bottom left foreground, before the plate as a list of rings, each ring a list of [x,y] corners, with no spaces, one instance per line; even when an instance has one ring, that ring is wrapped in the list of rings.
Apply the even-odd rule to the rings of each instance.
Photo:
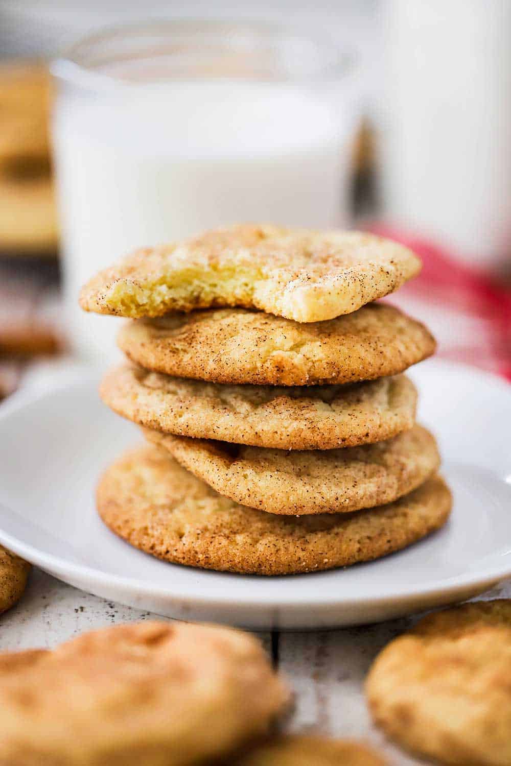
[[[286,686],[254,637],[119,625],[0,655],[0,764],[185,766],[267,733]]]

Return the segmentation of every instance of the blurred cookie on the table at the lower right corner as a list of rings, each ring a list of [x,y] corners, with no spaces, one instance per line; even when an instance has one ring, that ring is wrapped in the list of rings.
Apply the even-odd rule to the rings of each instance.
[[[424,617],[378,655],[375,722],[404,748],[457,766],[511,764],[511,600]]]

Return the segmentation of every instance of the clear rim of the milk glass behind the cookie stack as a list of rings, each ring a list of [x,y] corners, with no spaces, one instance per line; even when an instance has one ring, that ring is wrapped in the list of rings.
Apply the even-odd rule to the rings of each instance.
[[[172,81],[174,79],[172,76],[163,79],[159,77],[139,81],[128,80],[95,69],[90,62],[90,57],[93,56],[94,51],[100,51],[102,46],[114,43],[116,39],[122,40],[126,38],[129,41],[129,38],[133,38],[133,42],[135,42],[137,36],[142,37],[144,34],[154,34],[155,37],[168,38],[168,42],[172,43],[172,32],[176,35],[207,34],[212,39],[218,39],[218,42],[223,44],[225,50],[228,50],[230,47],[234,50],[232,40],[229,40],[228,34],[231,34],[233,37],[236,34],[249,34],[254,41],[271,42],[273,40],[277,46],[282,44],[284,40],[301,42],[308,45],[312,44],[316,47],[316,52],[319,54],[321,62],[319,67],[311,67],[309,71],[305,72],[287,72],[281,67],[280,70],[277,69],[277,71],[272,72],[271,77],[254,77],[254,74],[251,74],[251,77],[234,74],[198,77],[191,74],[188,80],[192,81],[212,80],[221,82],[222,80],[239,80],[251,83],[264,80],[271,83],[306,83],[311,81],[341,80],[352,75],[359,64],[354,48],[349,48],[344,43],[336,44],[329,34],[320,28],[310,31],[310,29],[304,29],[300,25],[286,25],[274,21],[250,19],[175,18],[162,19],[161,21],[130,22],[129,24],[114,25],[87,34],[51,62],[51,74],[58,80],[66,80],[69,83],[93,89],[116,86],[136,87],[142,84],[148,85]],[[116,61],[115,57],[113,61]]]

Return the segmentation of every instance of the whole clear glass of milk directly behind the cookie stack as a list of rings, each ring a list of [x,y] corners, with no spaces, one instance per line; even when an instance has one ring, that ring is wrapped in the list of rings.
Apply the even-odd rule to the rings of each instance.
[[[64,300],[75,352],[113,354],[118,321],[80,286],[139,246],[241,221],[349,218],[351,55],[259,23],[120,28],[54,62]]]

